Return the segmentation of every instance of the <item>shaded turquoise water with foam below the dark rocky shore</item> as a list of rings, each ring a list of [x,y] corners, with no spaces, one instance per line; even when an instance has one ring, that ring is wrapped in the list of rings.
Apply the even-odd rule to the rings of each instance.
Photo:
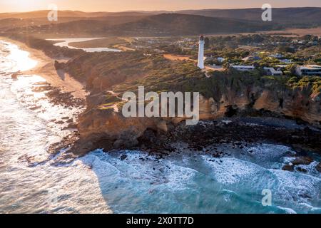
[[[139,151],[96,150],[81,160],[96,173],[116,213],[320,213],[320,174],[280,170],[290,148],[220,145],[230,156],[213,158],[183,149],[161,160]],[[255,154],[248,150],[256,150]],[[272,152],[272,154],[271,154]],[[127,155],[121,160],[121,155]],[[284,156],[289,157],[284,157]],[[262,191],[272,192],[263,207]]]

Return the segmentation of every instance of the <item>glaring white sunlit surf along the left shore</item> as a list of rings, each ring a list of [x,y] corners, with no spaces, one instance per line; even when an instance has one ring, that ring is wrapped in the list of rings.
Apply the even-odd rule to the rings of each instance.
[[[46,108],[43,114],[73,111],[56,110],[48,100],[37,102],[39,93],[30,90],[34,82],[44,81],[39,76],[19,76],[13,81],[11,72],[27,70],[35,62],[17,46],[2,46],[9,52],[0,57],[1,71],[8,71],[8,76],[0,78],[0,213],[110,213],[95,173],[80,160],[65,166],[37,165],[51,157],[47,146],[63,133],[28,106],[41,103]]]

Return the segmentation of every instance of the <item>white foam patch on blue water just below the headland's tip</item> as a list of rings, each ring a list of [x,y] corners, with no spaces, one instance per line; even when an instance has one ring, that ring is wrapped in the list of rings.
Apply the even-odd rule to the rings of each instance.
[[[126,160],[120,156],[126,155]],[[81,160],[92,167],[100,177],[121,178],[126,181],[136,180],[139,182],[153,183],[154,187],[166,187],[168,190],[183,190],[197,171],[176,165],[170,160],[158,163],[155,156],[142,156],[142,152],[128,151],[118,156],[108,155],[101,150],[96,150],[86,155]],[[145,157],[141,160],[141,157]]]

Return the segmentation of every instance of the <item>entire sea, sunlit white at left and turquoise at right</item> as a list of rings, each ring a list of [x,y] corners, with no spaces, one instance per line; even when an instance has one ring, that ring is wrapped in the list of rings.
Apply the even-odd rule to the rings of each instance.
[[[35,91],[46,83],[41,76],[11,78],[34,62],[0,44],[1,213],[321,213],[320,157],[308,152],[314,161],[299,166],[307,172],[288,172],[282,166],[297,151],[277,143],[191,150],[175,142],[170,154],[95,150],[69,160],[65,150],[50,153],[72,133],[67,117],[81,110]],[[271,206],[263,206],[263,190],[272,192]]]

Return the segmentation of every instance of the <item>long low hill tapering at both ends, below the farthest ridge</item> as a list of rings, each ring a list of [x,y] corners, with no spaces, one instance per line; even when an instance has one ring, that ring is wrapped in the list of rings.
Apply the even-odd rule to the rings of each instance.
[[[272,29],[272,25],[238,19],[222,19],[188,14],[152,16],[108,16],[61,24],[13,28],[11,33],[82,33],[95,36],[184,36],[200,33],[253,32]]]

